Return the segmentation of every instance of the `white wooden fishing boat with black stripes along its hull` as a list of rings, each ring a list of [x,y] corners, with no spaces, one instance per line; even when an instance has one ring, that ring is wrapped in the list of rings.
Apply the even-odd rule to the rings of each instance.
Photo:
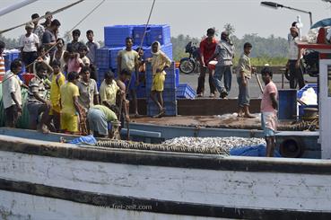
[[[327,45],[322,50],[331,54]],[[331,62],[324,59],[320,64],[320,129],[284,131],[283,138],[300,140],[310,134],[308,146],[318,138],[320,148],[315,152],[323,159],[73,145],[60,140],[77,136],[0,128],[1,218],[331,219],[331,101],[326,78]],[[151,142],[173,136],[262,136],[254,128],[145,121],[130,123],[130,134],[149,136]]]

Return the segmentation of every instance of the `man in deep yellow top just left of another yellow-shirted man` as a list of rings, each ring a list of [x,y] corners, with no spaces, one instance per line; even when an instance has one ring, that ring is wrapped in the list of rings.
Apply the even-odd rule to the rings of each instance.
[[[53,75],[51,77],[50,85],[50,103],[51,109],[49,111],[49,120],[53,119],[54,126],[57,132],[60,130],[60,112],[61,112],[61,103],[60,103],[60,87],[65,84],[65,75],[62,74],[61,63],[58,60],[53,60],[52,62]]]

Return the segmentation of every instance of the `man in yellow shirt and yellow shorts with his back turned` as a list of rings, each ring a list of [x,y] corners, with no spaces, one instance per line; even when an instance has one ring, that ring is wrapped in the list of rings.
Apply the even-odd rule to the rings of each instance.
[[[81,107],[78,103],[79,89],[76,85],[78,73],[70,72],[67,75],[68,82],[61,86],[61,130],[71,134],[78,132],[78,122],[81,116]],[[79,117],[79,118],[78,118]]]

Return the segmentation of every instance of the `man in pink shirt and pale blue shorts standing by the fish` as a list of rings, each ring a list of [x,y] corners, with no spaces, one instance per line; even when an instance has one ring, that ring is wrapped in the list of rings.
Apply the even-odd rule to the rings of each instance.
[[[273,82],[273,72],[270,67],[261,71],[266,86],[261,100],[261,127],[266,138],[266,156],[274,156],[275,136],[277,127],[278,90]]]

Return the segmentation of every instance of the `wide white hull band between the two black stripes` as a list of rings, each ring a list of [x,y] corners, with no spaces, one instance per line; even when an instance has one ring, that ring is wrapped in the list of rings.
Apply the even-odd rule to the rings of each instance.
[[[299,160],[310,161],[317,160]],[[182,169],[0,152],[0,178],[225,207],[331,210],[331,175]]]

